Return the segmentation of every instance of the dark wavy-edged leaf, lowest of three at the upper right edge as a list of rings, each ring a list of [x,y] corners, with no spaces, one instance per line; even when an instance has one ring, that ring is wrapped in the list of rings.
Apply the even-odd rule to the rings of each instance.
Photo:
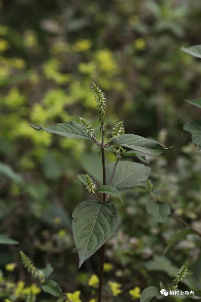
[[[192,120],[184,125],[184,130],[192,134],[192,141],[198,150],[201,149],[201,120]]]

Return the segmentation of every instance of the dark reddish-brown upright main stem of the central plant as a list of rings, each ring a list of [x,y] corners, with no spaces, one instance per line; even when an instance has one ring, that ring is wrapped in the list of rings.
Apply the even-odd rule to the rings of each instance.
[[[102,154],[102,175],[103,175],[103,185],[106,185],[106,169],[105,169],[105,150],[103,148],[104,144],[104,127],[102,126],[102,142],[101,142],[101,154]],[[103,194],[103,202],[106,201],[106,194]],[[98,289],[98,302],[101,302],[102,298],[102,284],[103,284],[103,265],[105,259],[105,244],[100,248],[101,259],[100,259],[100,272],[99,272],[99,289]]]

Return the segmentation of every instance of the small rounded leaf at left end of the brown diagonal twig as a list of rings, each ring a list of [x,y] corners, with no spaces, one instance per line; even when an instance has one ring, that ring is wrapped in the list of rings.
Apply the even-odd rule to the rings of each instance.
[[[164,222],[170,214],[170,206],[166,202],[149,201],[146,210],[152,215],[154,223]]]

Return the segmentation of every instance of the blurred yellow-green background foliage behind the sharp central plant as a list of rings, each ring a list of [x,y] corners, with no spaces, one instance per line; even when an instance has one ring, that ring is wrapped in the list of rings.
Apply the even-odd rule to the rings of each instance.
[[[84,116],[99,136],[91,91],[96,82],[108,99],[108,132],[124,120],[127,133],[174,146],[148,157],[150,179],[159,198],[200,229],[201,157],[182,128],[199,116],[184,99],[201,95],[201,64],[181,46],[200,44],[201,2],[11,0],[0,2],[0,13],[0,233],[20,242],[0,246],[0,278],[31,284],[20,264],[23,250],[39,267],[51,263],[61,287],[80,290],[88,301],[96,291],[87,285],[98,272],[99,253],[78,271],[71,214],[87,194],[74,172],[99,181],[100,154],[83,151],[89,146],[83,140],[36,132],[29,123]],[[107,154],[108,162],[114,160]],[[121,284],[115,301],[139,300],[131,288],[167,284],[187,260],[190,273],[181,289],[200,295],[200,238],[183,233],[164,253],[168,238],[184,227],[172,218],[155,225],[145,211],[151,196],[143,189],[123,195],[124,204],[116,203],[121,222],[107,244],[105,301],[113,301],[108,280]],[[9,263],[17,264],[12,276]],[[37,294],[37,301],[51,300]]]

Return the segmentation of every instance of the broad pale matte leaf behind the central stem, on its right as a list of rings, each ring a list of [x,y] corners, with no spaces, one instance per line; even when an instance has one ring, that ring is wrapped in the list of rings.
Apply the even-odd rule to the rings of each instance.
[[[107,184],[110,183],[110,179],[115,167],[115,162],[106,166],[106,180]],[[114,177],[111,185],[117,190],[133,187],[139,182],[143,182],[147,179],[150,168],[139,164],[137,162],[120,161],[117,164]]]

